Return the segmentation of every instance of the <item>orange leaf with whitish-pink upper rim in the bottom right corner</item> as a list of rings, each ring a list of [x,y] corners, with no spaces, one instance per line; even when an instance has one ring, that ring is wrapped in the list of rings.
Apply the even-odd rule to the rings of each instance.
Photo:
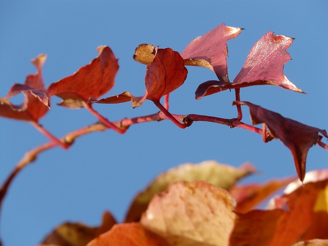
[[[324,172],[327,173],[327,170]],[[309,176],[312,174],[309,173]],[[277,224],[275,236],[269,245],[291,245],[301,240],[328,239],[328,179],[317,177],[317,180],[313,177],[305,179],[304,186],[292,185],[293,189],[288,186],[283,195],[271,200],[268,209],[282,209],[285,213]]]

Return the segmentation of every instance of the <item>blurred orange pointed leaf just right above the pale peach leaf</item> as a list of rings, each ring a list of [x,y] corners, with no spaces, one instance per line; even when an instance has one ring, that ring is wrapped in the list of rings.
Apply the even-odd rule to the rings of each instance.
[[[294,177],[273,179],[265,183],[248,183],[235,185],[229,189],[229,193],[237,201],[235,211],[246,213],[257,206],[264,199],[288,185]]]

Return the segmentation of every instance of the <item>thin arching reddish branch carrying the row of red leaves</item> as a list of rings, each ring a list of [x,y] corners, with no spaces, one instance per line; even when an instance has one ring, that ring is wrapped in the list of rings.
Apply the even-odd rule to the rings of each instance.
[[[55,137],[49,137],[52,140],[51,142],[47,142],[46,144],[40,145],[40,146],[26,152],[24,157],[17,163],[16,167],[13,169],[13,171],[10,173],[10,175],[8,176],[8,178],[5,180],[5,182],[3,183],[2,187],[1,187],[1,190],[0,190],[0,210],[1,210],[1,207],[2,207],[2,202],[5,198],[5,196],[7,194],[7,191],[9,189],[12,181],[14,180],[14,178],[17,176],[17,174],[20,171],[23,170],[23,168],[28,166],[29,163],[33,162],[36,159],[36,157],[38,156],[38,154],[40,154],[40,153],[42,153],[46,150],[49,150],[51,148],[54,148],[56,146],[67,147],[68,148],[69,146],[71,146],[73,144],[73,142],[76,138],[78,138],[80,136],[83,136],[83,135],[86,135],[88,133],[97,132],[97,131],[105,131],[105,130],[108,130],[108,129],[113,129],[115,131],[117,131],[117,129],[119,129],[119,131],[122,131],[120,133],[124,133],[125,131],[127,131],[127,129],[131,125],[134,125],[134,124],[143,123],[143,122],[151,122],[151,121],[160,121],[160,120],[164,120],[164,119],[170,119],[177,126],[179,126],[180,128],[186,128],[186,127],[191,126],[193,121],[207,121],[207,122],[213,122],[213,123],[217,123],[217,124],[221,124],[221,125],[226,125],[226,126],[229,126],[230,128],[239,127],[239,128],[243,128],[245,130],[249,130],[249,131],[252,131],[252,132],[255,132],[255,133],[258,133],[258,134],[263,134],[262,129],[259,129],[257,127],[245,124],[245,123],[241,122],[240,120],[238,120],[237,118],[225,119],[225,118],[206,116],[206,115],[198,115],[198,114],[176,115],[176,114],[169,113],[166,110],[166,108],[163,107],[159,103],[159,101],[154,101],[154,103],[161,110],[160,112],[158,112],[156,114],[140,116],[140,117],[135,117],[135,118],[124,118],[122,120],[115,121],[115,122],[110,122],[109,121],[110,126],[107,125],[107,122],[106,122],[107,119],[105,120],[105,122],[104,122],[104,120],[101,120],[101,122],[99,122],[99,123],[95,123],[93,125],[90,125],[90,126],[87,126],[87,127],[84,127],[84,128],[80,128],[78,130],[70,132],[70,133],[66,134],[64,137],[61,137],[60,139],[57,139]],[[90,112],[96,112],[91,107],[90,108],[86,107],[86,108]],[[97,114],[97,113],[95,113],[95,114]],[[103,116],[101,116],[101,117],[103,117]],[[183,123],[181,123],[180,121],[182,121]],[[37,127],[37,129],[39,129],[43,132],[47,132],[40,125],[38,125],[38,124],[33,124],[33,125],[35,127]],[[270,133],[268,133],[266,135],[267,136],[265,138],[265,141],[270,141],[270,140],[273,139],[273,137],[270,135]],[[52,135],[50,134],[49,136],[52,136]],[[264,139],[264,137],[263,137],[263,139]],[[318,141],[317,144],[328,151],[328,146],[323,144],[323,142]],[[65,149],[67,149],[67,148],[65,148]]]

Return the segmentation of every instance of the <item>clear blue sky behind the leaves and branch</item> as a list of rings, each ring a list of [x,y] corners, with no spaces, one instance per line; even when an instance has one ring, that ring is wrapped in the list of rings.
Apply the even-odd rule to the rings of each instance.
[[[0,1],[0,96],[14,83],[35,72],[30,63],[48,54],[43,74],[46,86],[89,64],[96,47],[108,45],[119,59],[115,87],[106,96],[130,91],[145,93],[146,66],[133,60],[135,48],[150,43],[182,52],[195,37],[221,23],[244,28],[228,41],[228,71],[232,81],[253,44],[266,32],[294,37],[292,56],[284,74],[308,94],[274,86],[241,90],[241,99],[281,113],[304,124],[328,130],[327,1]],[[232,118],[234,92],[223,91],[194,99],[199,84],[216,79],[205,68],[188,67],[185,84],[170,96],[170,111]],[[13,99],[19,103],[18,95]],[[40,120],[60,137],[97,120],[85,109],[56,106]],[[157,112],[146,102],[95,105],[110,120]],[[244,122],[250,123],[243,107]],[[0,118],[0,181],[3,182],[26,151],[48,139],[30,124]],[[313,147],[308,170],[327,166],[328,153]],[[172,122],[132,126],[124,135],[92,133],[67,151],[55,148],[40,154],[14,180],[0,220],[4,245],[35,245],[64,221],[100,222],[110,210],[124,218],[134,195],[160,172],[185,162],[217,160],[233,166],[250,161],[262,172],[246,181],[296,175],[290,151],[279,141],[264,144],[261,136],[209,122],[178,129]]]

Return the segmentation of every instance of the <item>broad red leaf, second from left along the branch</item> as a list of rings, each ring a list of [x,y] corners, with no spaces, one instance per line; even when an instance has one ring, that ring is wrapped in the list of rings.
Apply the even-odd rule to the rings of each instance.
[[[80,108],[86,106],[90,97],[98,98],[111,90],[118,71],[117,59],[108,46],[99,46],[97,50],[98,57],[73,75],[51,84],[47,95],[63,98],[61,106]]]

